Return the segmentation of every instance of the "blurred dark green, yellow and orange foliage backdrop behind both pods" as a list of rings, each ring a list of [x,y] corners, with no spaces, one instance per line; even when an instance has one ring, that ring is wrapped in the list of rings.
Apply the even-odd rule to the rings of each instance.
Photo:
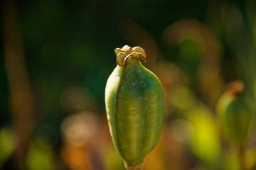
[[[146,50],[144,64],[164,86],[164,128],[146,170],[256,169],[255,125],[241,156],[240,148],[222,134],[215,111],[225,85],[235,79],[244,81],[248,94],[256,98],[255,1],[2,4],[0,169],[10,168],[10,162],[16,169],[31,170],[124,169],[107,128],[104,92],[116,66],[114,49],[126,44]],[[14,39],[6,36],[4,26],[13,14],[6,11],[16,15],[17,26],[9,29]],[[9,39],[20,40],[22,50],[16,43],[8,46]],[[11,80],[20,77],[9,71],[20,60],[7,60],[8,50],[23,53],[18,65],[28,80],[16,82],[21,91],[23,83],[31,87],[25,89],[33,96],[32,115],[15,108],[18,93]],[[28,91],[19,96],[21,101],[27,100]],[[70,115],[78,118],[69,122]],[[23,122],[23,116],[33,125]],[[23,149],[26,152],[19,152]]]

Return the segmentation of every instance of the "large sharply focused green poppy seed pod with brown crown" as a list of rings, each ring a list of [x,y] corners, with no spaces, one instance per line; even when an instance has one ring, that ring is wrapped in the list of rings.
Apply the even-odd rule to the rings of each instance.
[[[141,61],[141,47],[115,50],[117,67],[105,89],[110,133],[127,169],[142,169],[146,154],[159,140],[164,118],[164,97],[159,79]]]

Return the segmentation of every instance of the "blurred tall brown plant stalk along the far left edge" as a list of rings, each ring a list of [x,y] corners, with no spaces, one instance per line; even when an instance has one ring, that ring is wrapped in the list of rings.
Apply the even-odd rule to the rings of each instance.
[[[35,125],[35,101],[26,67],[16,1],[4,1],[2,11],[5,69],[10,90],[12,123],[16,135],[14,157],[18,162],[23,162]]]

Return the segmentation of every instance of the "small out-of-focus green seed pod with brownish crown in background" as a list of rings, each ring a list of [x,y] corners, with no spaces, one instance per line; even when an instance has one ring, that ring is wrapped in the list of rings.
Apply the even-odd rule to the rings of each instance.
[[[242,81],[229,84],[228,91],[217,103],[223,135],[237,145],[245,145],[250,136],[250,128],[255,114],[255,103],[245,91]]]

